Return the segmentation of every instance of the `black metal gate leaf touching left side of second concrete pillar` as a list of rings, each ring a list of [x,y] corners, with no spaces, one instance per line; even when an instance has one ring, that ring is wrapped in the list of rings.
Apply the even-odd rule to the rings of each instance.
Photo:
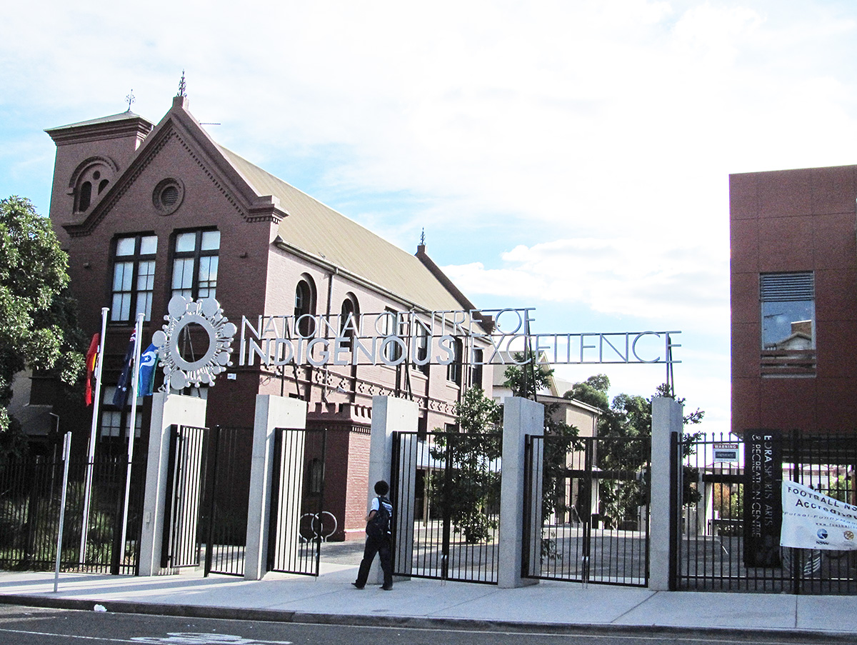
[[[208,441],[204,575],[244,575],[253,429],[215,425]]]

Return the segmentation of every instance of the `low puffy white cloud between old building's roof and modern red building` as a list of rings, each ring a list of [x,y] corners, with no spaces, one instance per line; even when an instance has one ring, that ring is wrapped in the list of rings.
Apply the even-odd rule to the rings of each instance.
[[[506,295],[707,334],[728,329],[728,256],[703,244],[647,244],[632,238],[561,239],[481,262],[443,267],[469,294]],[[724,327],[725,326],[725,327]]]

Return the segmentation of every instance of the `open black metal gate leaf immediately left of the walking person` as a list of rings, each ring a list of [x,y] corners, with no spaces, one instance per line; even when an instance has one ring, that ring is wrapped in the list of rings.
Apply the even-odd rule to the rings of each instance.
[[[324,507],[327,430],[275,432],[267,569],[318,576],[321,542],[336,521]]]

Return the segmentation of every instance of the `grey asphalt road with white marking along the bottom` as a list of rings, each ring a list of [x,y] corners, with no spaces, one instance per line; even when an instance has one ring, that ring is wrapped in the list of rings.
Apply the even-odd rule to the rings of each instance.
[[[634,634],[543,634],[462,629],[328,624],[263,623],[213,618],[177,618],[141,614],[82,612],[24,606],[0,606],[0,645],[101,645],[162,643],[164,645],[702,645],[703,643],[818,643],[827,636],[798,640],[788,634],[728,636],[716,632]],[[845,642],[845,641],[838,641]]]

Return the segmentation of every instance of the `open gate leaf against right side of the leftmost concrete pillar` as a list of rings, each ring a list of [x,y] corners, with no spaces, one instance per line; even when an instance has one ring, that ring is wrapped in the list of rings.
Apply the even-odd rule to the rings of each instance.
[[[173,425],[167,467],[161,566],[196,567],[201,553],[201,503],[208,428]]]

